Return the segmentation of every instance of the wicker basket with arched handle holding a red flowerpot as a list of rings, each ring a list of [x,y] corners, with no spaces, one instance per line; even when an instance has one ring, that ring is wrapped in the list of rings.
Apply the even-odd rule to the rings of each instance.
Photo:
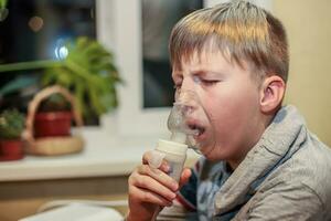
[[[56,102],[50,103],[50,99]],[[70,105],[64,104],[64,101],[70,103]],[[67,106],[67,108],[70,106],[70,110],[63,112],[64,109],[62,108],[61,112],[55,112],[54,108],[58,109],[61,106],[58,102],[62,103],[61,105]],[[42,105],[42,103],[44,104]],[[52,107],[52,112],[41,112],[49,107]],[[71,134],[72,118],[76,123],[77,128],[83,125],[81,113],[77,110],[76,99],[67,90],[53,85],[40,91],[28,106],[26,128],[23,133],[26,141],[25,151],[41,156],[56,156],[81,151],[84,147],[84,139],[78,130]]]

